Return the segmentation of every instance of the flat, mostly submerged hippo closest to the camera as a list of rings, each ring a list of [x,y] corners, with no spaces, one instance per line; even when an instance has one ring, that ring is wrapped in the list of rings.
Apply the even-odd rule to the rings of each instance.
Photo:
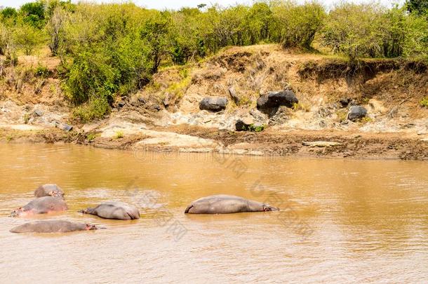
[[[36,221],[15,226],[11,233],[67,233],[70,231],[96,230],[97,226],[91,224],[74,223],[63,220]]]

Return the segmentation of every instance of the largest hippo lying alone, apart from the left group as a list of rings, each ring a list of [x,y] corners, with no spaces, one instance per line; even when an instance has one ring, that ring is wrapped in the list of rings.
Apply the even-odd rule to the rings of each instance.
[[[272,207],[258,201],[251,201],[239,196],[213,195],[199,198],[187,206],[185,213],[188,214],[227,214],[238,212],[262,212],[277,211],[279,208]]]

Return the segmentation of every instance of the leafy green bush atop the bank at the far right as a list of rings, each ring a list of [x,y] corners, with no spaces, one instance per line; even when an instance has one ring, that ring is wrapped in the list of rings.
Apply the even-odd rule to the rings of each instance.
[[[330,11],[321,43],[334,53],[359,57],[394,58],[427,53],[428,22],[404,8],[342,3]]]

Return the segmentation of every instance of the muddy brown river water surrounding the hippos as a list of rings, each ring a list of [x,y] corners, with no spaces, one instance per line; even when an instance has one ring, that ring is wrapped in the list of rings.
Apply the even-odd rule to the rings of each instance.
[[[154,154],[74,145],[0,144],[2,283],[428,283],[428,163]],[[40,184],[69,210],[8,217]],[[185,215],[196,198],[233,194],[279,212]],[[114,221],[77,210],[138,206]],[[34,219],[106,229],[12,234]]]

